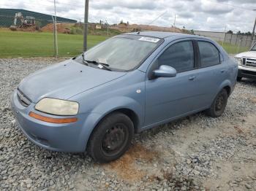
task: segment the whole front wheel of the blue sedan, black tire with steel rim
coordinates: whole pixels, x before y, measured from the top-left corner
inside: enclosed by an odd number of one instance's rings
[[[132,120],[121,112],[105,117],[89,139],[89,155],[97,163],[116,160],[129,149],[134,134]]]

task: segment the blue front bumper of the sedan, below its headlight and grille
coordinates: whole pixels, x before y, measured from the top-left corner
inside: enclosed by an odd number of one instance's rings
[[[53,117],[50,114],[43,114],[34,109],[31,103],[28,107],[20,104],[18,101],[17,91],[12,95],[12,111],[15,114],[18,127],[26,135],[26,137],[37,144],[39,147],[60,152],[84,152],[86,149],[86,132],[83,125],[86,119],[85,115],[78,114],[78,121],[54,124],[36,120],[29,116],[29,112]],[[89,132],[88,132],[89,133]]]

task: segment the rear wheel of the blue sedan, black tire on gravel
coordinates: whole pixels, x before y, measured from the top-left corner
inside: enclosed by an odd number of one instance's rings
[[[227,90],[222,89],[216,98],[214,98],[214,102],[211,104],[211,107],[206,110],[206,114],[210,117],[219,117],[225,111],[227,106]]]

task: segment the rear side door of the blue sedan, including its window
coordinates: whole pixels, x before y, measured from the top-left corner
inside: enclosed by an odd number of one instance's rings
[[[198,40],[199,69],[197,69],[198,101],[194,109],[206,109],[211,106],[219,86],[227,72],[218,48],[207,40]]]

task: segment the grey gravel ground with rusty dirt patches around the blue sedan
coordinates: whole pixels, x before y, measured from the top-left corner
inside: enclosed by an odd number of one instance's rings
[[[17,128],[12,91],[56,61],[0,60],[0,190],[256,190],[256,82],[238,82],[222,117],[144,131],[121,159],[99,165],[86,153],[41,149]]]

